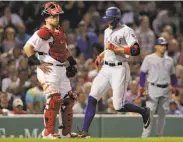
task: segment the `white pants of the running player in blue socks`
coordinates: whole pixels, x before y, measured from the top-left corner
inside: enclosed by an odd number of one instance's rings
[[[113,105],[115,110],[119,110],[124,105],[125,93],[129,81],[130,69],[127,62],[123,62],[123,65],[114,67],[103,65],[93,81],[90,96],[99,100],[109,88],[112,88]]]

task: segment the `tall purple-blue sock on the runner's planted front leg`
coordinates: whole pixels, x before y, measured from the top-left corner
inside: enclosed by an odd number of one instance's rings
[[[96,105],[97,105],[97,100],[92,96],[89,96],[82,131],[86,131],[86,132],[88,131],[90,124],[95,116]]]

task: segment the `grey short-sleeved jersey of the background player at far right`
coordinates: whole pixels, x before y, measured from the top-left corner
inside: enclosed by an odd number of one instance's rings
[[[148,73],[148,82],[155,84],[170,83],[170,76],[175,73],[173,60],[166,55],[159,57],[155,53],[145,57],[140,70]]]

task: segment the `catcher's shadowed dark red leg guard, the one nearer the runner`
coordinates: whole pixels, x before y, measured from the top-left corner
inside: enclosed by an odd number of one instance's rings
[[[73,94],[72,94],[73,95]],[[72,131],[72,120],[73,120],[73,106],[75,102],[75,97],[71,94],[66,95],[64,98],[64,104],[62,106],[62,134],[66,136],[67,134],[71,134]]]

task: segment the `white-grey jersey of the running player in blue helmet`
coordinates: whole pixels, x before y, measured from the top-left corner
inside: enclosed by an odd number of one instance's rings
[[[126,25],[120,25],[120,27],[112,30],[107,28],[104,32],[104,45],[110,42],[117,47],[131,47],[138,40],[135,36],[134,30]],[[129,56],[124,54],[116,54],[110,50],[105,50],[104,60],[108,62],[123,62],[126,61]]]

